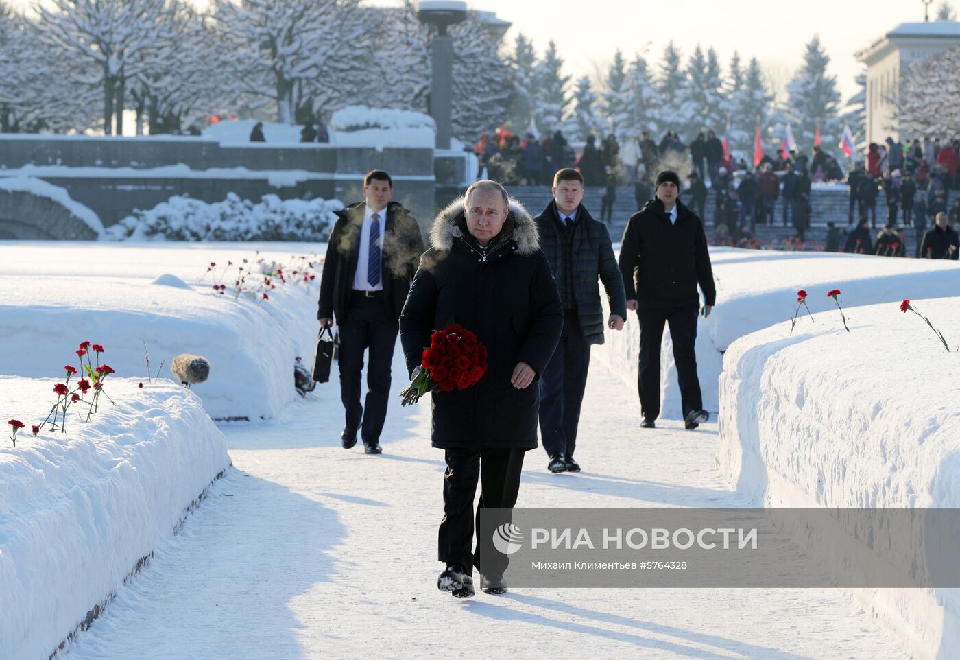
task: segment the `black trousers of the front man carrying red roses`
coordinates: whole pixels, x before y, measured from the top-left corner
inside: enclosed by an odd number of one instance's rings
[[[476,494],[479,477],[477,529],[480,528],[480,514],[484,508],[512,509],[520,489],[524,452],[522,449],[509,448],[445,450],[444,520],[440,524],[438,538],[438,558],[444,564],[459,564],[467,574],[472,573],[474,563],[484,574],[503,574],[506,570],[507,557],[500,552],[491,551],[492,538],[478,538],[476,553],[471,551],[473,496]],[[509,523],[509,517],[502,522]],[[481,559],[481,548],[490,554],[489,560]]]

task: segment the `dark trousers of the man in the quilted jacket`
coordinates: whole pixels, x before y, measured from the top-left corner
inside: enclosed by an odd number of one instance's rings
[[[577,310],[564,310],[560,343],[540,374],[540,439],[548,456],[572,456],[577,449],[589,366],[590,345],[584,339]]]

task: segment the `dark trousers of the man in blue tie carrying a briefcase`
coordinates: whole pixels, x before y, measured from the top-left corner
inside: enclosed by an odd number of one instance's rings
[[[387,311],[382,291],[370,298],[354,291],[345,317],[340,324],[340,399],[347,411],[347,428],[360,429],[363,441],[372,443],[380,438],[387,416],[390,364],[394,359],[399,325]],[[360,380],[364,353],[368,349],[370,358],[364,406],[360,404]]]

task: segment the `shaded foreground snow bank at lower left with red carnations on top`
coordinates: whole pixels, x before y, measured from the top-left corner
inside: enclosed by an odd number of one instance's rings
[[[54,382],[0,376],[4,421],[27,425],[16,449],[0,442],[0,658],[11,660],[48,657],[229,465],[200,400],[167,379],[108,379],[115,405],[33,437]]]

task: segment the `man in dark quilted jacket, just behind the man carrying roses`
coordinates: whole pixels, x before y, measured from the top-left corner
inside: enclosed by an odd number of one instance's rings
[[[537,218],[540,249],[550,263],[564,306],[564,331],[540,378],[540,439],[554,473],[580,472],[573,458],[580,407],[587,387],[590,346],[604,342],[603,281],[611,314],[606,325],[623,330],[627,299],[613,256],[610,232],[582,204],[584,178],[562,169],[553,178],[553,200]]]

